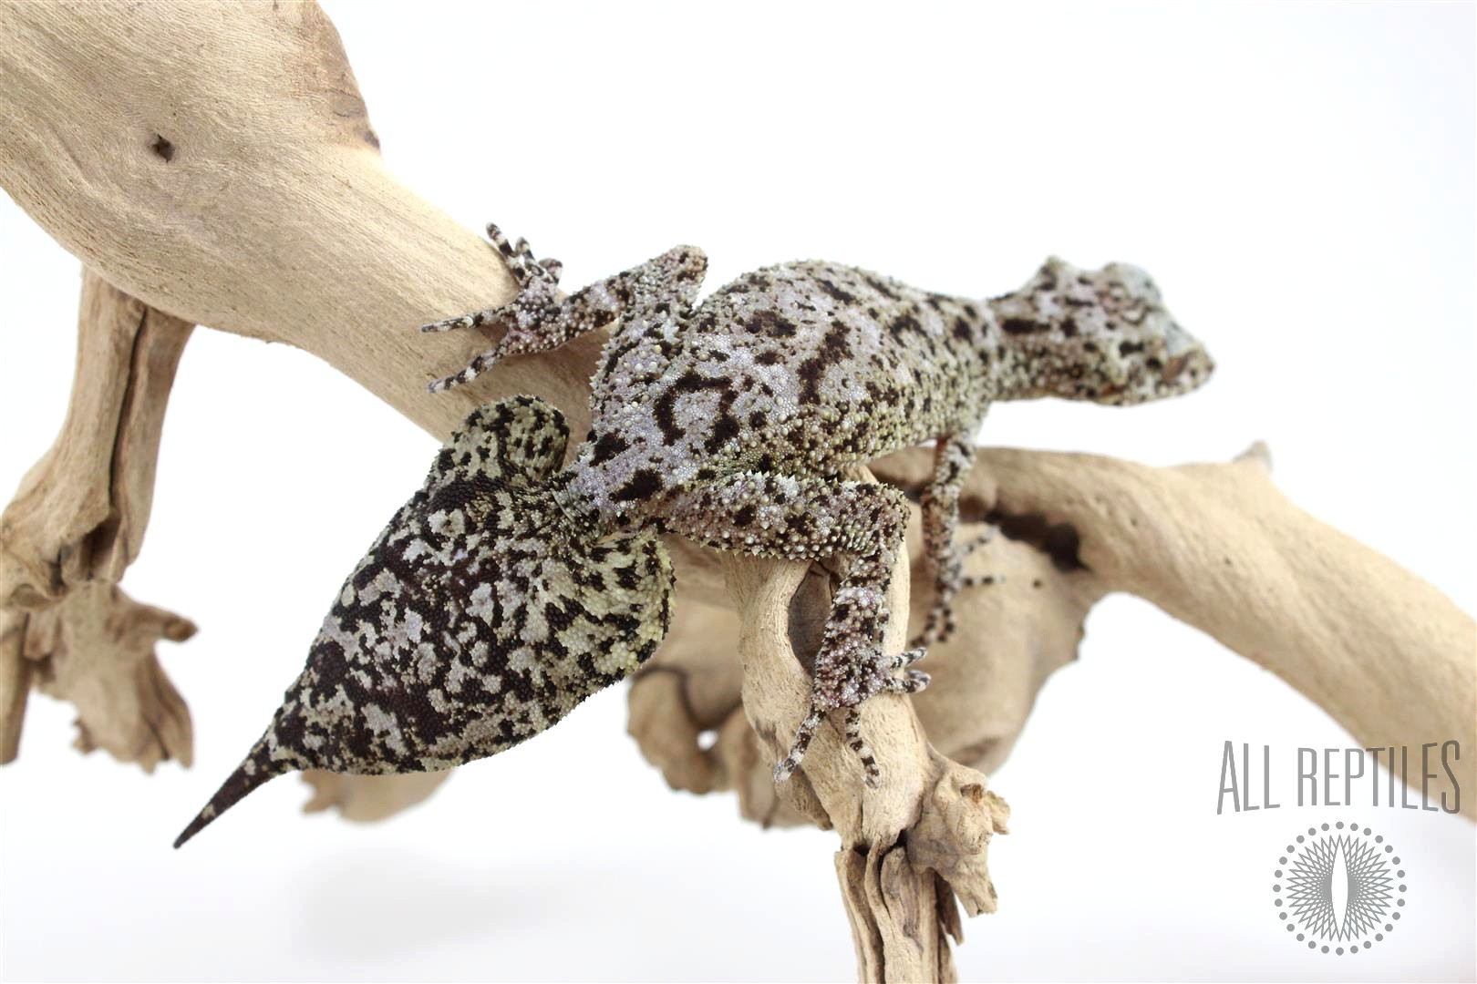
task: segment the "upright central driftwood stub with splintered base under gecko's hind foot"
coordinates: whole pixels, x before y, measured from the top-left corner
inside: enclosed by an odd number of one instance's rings
[[[812,614],[829,608],[830,578],[799,562],[725,555],[725,564],[738,609],[743,708],[767,752],[756,764],[772,769],[809,704],[801,655],[814,656],[820,642]],[[907,611],[908,590],[899,556],[892,611]],[[894,618],[883,651],[901,651],[905,631],[907,620]],[[907,698],[867,701],[861,732],[882,769],[876,789],[860,782],[860,763],[833,718],[778,795],[840,835],[836,873],[861,980],[953,980],[947,937],[962,938],[954,897],[970,915],[994,912],[985,850],[1004,832],[1009,808],[987,792],[982,775],[933,751]]]

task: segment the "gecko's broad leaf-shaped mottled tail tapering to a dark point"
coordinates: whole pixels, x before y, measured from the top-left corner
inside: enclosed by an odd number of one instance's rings
[[[344,581],[266,735],[176,847],[298,770],[433,772],[493,755],[631,676],[671,621],[654,533],[598,538],[561,509],[567,429],[480,407]]]

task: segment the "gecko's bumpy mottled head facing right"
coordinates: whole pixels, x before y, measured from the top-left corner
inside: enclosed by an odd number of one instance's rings
[[[1080,270],[1056,257],[1022,289],[991,301],[1007,372],[1032,395],[1127,406],[1189,392],[1216,364],[1127,263]]]

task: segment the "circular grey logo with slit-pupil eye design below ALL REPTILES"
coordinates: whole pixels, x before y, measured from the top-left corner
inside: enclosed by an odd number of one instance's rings
[[[1384,836],[1357,823],[1307,828],[1272,872],[1272,904],[1309,950],[1353,956],[1400,925],[1405,869]]]

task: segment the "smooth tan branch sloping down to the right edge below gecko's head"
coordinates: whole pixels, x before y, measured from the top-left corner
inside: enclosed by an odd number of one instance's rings
[[[1081,562],[1108,590],[1145,597],[1272,670],[1362,746],[1477,748],[1477,624],[1288,502],[1264,447],[1230,465],[1170,469],[1010,448],[981,465],[998,488],[995,512],[1075,530]],[[1471,791],[1474,779],[1477,760],[1462,755],[1458,786]],[[1450,792],[1445,770],[1430,789]],[[1461,797],[1468,817],[1473,800]]]

